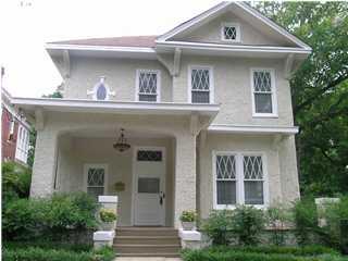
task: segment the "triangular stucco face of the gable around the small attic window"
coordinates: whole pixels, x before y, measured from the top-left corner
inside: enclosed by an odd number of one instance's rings
[[[221,39],[221,27],[223,23],[237,23],[240,26],[240,42],[228,42]],[[259,22],[260,23],[260,22]],[[294,46],[288,40],[274,35],[270,28],[261,32],[249,21],[241,18],[238,14],[226,12],[216,18],[192,29],[191,32],[178,34],[173,40],[212,42],[223,45],[254,45],[254,46]]]

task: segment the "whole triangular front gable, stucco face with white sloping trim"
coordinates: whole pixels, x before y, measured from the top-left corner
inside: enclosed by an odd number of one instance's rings
[[[223,44],[222,25],[239,26],[240,41],[233,45],[311,48],[287,30],[243,2],[222,2],[214,8],[181,24],[158,38],[157,42],[191,41]]]

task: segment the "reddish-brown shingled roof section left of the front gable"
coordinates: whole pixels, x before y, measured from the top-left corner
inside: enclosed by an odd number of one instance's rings
[[[158,36],[124,36],[48,42],[49,45],[154,48]]]

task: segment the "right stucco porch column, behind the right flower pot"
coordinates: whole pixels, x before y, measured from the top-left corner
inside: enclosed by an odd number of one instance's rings
[[[190,133],[176,137],[174,226],[181,227],[184,210],[196,210],[196,137]]]

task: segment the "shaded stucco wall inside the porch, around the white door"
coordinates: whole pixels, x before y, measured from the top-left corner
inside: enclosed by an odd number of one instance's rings
[[[140,134],[139,134],[140,135]],[[59,156],[58,190],[76,191],[86,190],[84,184],[85,164],[107,164],[108,184],[105,195],[116,195],[119,197],[120,217],[117,225],[132,225],[132,192],[133,192],[133,161],[134,150],[137,146],[164,147],[165,148],[165,224],[173,226],[173,189],[174,189],[174,157],[172,138],[130,138],[130,149],[125,152],[117,152],[113,149],[113,138],[78,138],[64,137],[70,140],[70,150],[62,151]],[[65,144],[59,144],[64,148]],[[125,190],[115,192],[113,185],[116,182],[125,184]]]

